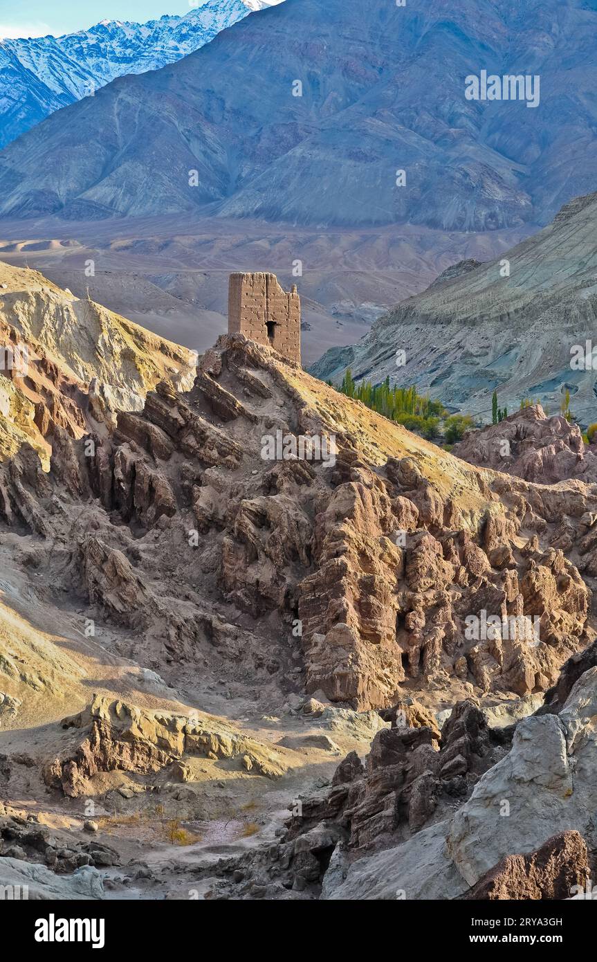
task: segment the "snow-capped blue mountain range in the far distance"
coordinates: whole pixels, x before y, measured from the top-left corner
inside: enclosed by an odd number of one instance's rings
[[[0,148],[115,77],[180,60],[272,2],[280,0],[208,0],[147,23],[101,20],[63,37],[0,38]]]

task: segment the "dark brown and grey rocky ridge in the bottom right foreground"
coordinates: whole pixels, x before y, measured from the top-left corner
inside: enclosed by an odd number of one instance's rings
[[[375,737],[364,767],[348,755],[331,792],[293,811],[276,850],[244,858],[244,884],[231,884],[229,865],[214,893],[585,898],[597,854],[586,807],[595,792],[596,692],[593,668],[558,715],[501,732],[487,728],[472,702],[460,702],[440,738],[417,723],[412,704],[410,717],[399,707],[403,723]]]

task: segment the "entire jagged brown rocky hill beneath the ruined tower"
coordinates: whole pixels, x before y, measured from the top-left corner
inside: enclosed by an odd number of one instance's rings
[[[336,455],[272,458],[279,435],[334,435]],[[465,467],[242,335],[192,392],[162,383],[81,442],[57,430],[49,476],[36,464],[0,468],[0,517],[157,666],[248,657],[363,710],[405,683],[545,691],[594,637],[590,488]]]

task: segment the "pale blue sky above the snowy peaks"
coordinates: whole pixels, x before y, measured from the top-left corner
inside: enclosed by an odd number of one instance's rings
[[[0,37],[70,34],[98,20],[151,20],[162,13],[188,13],[201,0],[0,0]]]

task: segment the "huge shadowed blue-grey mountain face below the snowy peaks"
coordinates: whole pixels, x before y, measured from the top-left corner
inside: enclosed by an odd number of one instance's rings
[[[597,180],[596,27],[581,0],[286,0],[18,139],[0,212],[545,223]],[[465,77],[484,69],[538,75],[538,105],[467,100]]]

